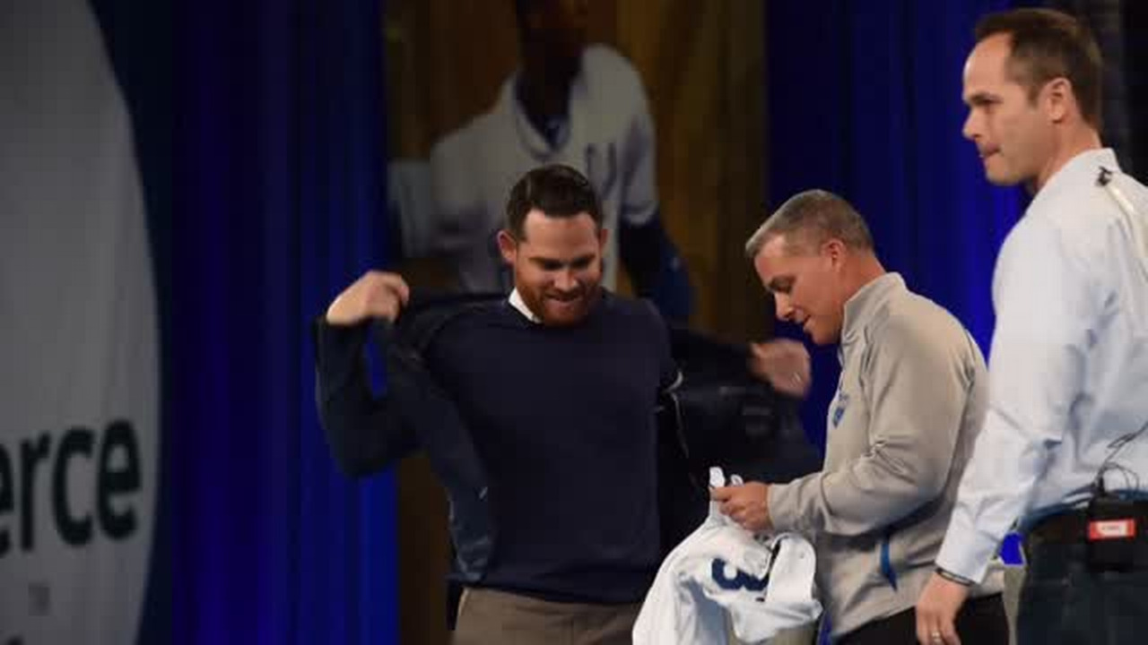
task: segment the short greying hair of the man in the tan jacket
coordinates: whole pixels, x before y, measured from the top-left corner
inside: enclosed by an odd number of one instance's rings
[[[836,238],[851,249],[872,250],[872,235],[861,215],[844,199],[828,191],[806,191],[785,201],[745,243],[753,259],[769,240],[785,235],[789,249],[806,250]]]

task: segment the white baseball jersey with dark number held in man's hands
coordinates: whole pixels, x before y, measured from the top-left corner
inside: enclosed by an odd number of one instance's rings
[[[709,484],[724,484],[711,468]],[[731,483],[740,483],[735,475]],[[709,516],[674,549],[634,623],[635,645],[744,643],[817,620],[813,545],[797,534],[758,539],[709,504]]]

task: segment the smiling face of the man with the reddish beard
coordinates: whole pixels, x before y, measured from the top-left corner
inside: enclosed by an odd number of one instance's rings
[[[514,267],[514,288],[543,325],[582,321],[602,293],[606,231],[589,213],[549,217],[532,209],[523,235],[498,233],[503,258]]]

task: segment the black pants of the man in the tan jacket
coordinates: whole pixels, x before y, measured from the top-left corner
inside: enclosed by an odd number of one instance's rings
[[[1000,593],[974,598],[956,615],[956,635],[969,645],[1008,645],[1008,616]],[[841,636],[837,645],[917,645],[917,612],[905,609]]]

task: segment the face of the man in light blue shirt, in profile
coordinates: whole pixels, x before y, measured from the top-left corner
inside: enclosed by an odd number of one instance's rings
[[[1009,70],[1011,37],[985,38],[964,65],[969,116],[962,133],[977,146],[988,181],[1042,184],[1055,156],[1053,123],[1044,107],[1047,86],[1030,96]]]

